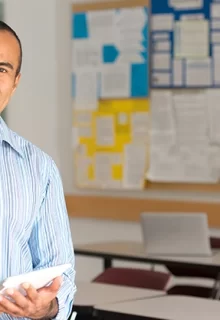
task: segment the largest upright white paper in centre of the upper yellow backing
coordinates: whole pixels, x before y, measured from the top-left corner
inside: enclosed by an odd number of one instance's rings
[[[96,117],[96,144],[97,146],[114,146],[114,117]]]

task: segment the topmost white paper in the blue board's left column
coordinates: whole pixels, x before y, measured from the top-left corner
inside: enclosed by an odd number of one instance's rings
[[[165,31],[173,30],[174,15],[173,14],[155,14],[152,16],[152,30]]]

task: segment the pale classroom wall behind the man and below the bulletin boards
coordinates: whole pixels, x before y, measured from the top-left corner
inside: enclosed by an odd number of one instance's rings
[[[6,21],[16,29],[24,49],[23,77],[7,110],[8,123],[12,129],[54,158],[62,174],[65,192],[82,193],[74,188],[71,150],[71,1],[5,2]],[[220,201],[217,193],[201,195],[154,191],[108,194]],[[88,219],[70,219],[70,223],[74,243],[103,239],[138,241],[141,238],[139,225],[135,223]],[[212,230],[213,232],[220,234],[220,230]],[[77,257],[78,279],[91,279],[99,271],[100,261]]]

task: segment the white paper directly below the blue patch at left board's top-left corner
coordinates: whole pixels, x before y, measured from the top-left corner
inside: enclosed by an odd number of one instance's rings
[[[98,68],[101,64],[101,44],[96,41],[74,40],[72,49],[72,70]]]

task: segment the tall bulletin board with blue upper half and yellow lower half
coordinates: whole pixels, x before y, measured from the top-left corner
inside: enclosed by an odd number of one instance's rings
[[[144,188],[149,148],[147,0],[73,5],[73,152],[80,188]]]

